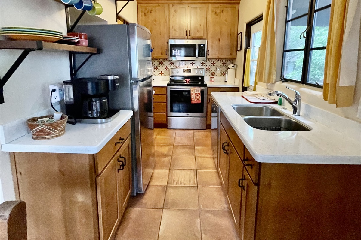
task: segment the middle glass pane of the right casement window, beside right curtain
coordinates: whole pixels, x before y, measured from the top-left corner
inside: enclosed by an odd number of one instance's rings
[[[331,8],[327,8],[315,14],[312,47],[326,47],[327,36],[329,35],[330,10]]]

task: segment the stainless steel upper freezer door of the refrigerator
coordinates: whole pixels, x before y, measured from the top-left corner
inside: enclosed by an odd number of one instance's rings
[[[144,26],[129,24],[131,81],[140,81],[152,75],[151,33]]]

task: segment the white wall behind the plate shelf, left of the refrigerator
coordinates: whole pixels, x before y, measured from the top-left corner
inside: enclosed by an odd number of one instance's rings
[[[0,26],[48,28],[66,33],[64,5],[53,0],[0,0]],[[0,50],[0,76],[21,54]],[[4,86],[0,124],[48,109],[49,84],[70,79],[69,56],[64,52],[31,52]],[[56,105],[58,107],[58,105]],[[1,143],[0,143],[1,144]],[[0,200],[14,200],[9,154],[0,151]]]

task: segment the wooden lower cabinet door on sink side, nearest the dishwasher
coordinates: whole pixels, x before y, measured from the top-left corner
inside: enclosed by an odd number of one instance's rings
[[[222,185],[227,191],[228,189],[228,168],[229,168],[229,145],[230,140],[228,139],[227,133],[224,130],[222,124],[219,124],[220,128],[220,136],[219,136],[219,164],[218,164],[218,172],[221,176]]]

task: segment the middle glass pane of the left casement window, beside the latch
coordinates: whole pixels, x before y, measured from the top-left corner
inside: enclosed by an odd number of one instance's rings
[[[286,29],[286,49],[302,49],[305,48],[305,39],[302,34],[307,28],[307,16],[293,20],[287,23]]]

